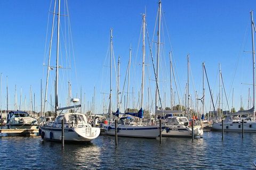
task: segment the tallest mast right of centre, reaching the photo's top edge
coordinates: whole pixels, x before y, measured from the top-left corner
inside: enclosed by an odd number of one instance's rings
[[[156,58],[156,84],[158,84],[158,73],[159,73],[159,56],[160,56],[160,29],[161,29],[161,7],[162,2],[159,0],[158,3],[158,40],[157,40],[157,58]],[[157,87],[156,87],[156,96],[155,96],[156,104],[155,104],[155,110],[158,109],[158,93],[157,93]]]

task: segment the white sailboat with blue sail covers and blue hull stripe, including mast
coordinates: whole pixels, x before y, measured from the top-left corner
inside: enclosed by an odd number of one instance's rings
[[[159,135],[159,126],[157,125],[146,125],[142,123],[141,118],[143,118],[143,89],[144,89],[144,67],[145,67],[145,27],[146,27],[146,15],[142,14],[143,22],[143,39],[142,39],[142,83],[141,83],[141,108],[138,113],[125,113],[127,116],[119,118],[117,135],[123,137],[139,137],[139,138],[157,138]],[[111,32],[112,37],[112,32]],[[111,66],[110,66],[111,68]],[[111,72],[111,71],[110,71]],[[110,85],[111,89],[111,85]],[[111,92],[111,90],[110,90]],[[110,95],[111,102],[111,95]],[[111,103],[110,103],[111,108]],[[119,109],[118,109],[119,111]],[[118,112],[116,113],[118,114]],[[131,116],[138,117],[139,121],[131,121]],[[165,126],[163,125],[162,129],[164,130]],[[108,135],[115,135],[115,124],[109,122],[104,126],[105,132]]]

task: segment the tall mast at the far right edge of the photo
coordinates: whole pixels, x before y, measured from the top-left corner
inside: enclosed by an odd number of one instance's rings
[[[253,119],[255,120],[255,50],[254,50],[254,31],[255,31],[255,25],[253,22],[253,11],[251,12],[251,20],[252,20],[252,75],[253,75],[253,99],[252,99],[252,106],[253,106]]]

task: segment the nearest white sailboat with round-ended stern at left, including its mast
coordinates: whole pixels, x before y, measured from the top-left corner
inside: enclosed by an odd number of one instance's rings
[[[56,1],[54,3],[54,14],[55,14]],[[55,116],[58,111],[63,111],[64,109],[71,109],[76,107],[81,107],[81,105],[74,105],[65,108],[58,107],[58,70],[59,70],[59,31],[60,31],[60,0],[58,3],[58,36],[57,36],[57,63],[56,63],[56,78],[55,78]],[[53,16],[54,23],[54,16]],[[54,24],[53,24],[54,25]],[[52,25],[52,27],[53,27]],[[52,29],[53,30],[53,29]],[[50,63],[50,59],[49,59]],[[71,100],[75,104],[78,99]],[[66,113],[60,114],[54,122],[46,122],[45,124],[39,126],[39,135],[42,139],[61,141],[62,135],[62,125],[61,121],[64,123],[64,140],[71,142],[87,142],[97,138],[100,134],[100,128],[92,128],[92,126],[87,122],[87,117],[81,113]]]

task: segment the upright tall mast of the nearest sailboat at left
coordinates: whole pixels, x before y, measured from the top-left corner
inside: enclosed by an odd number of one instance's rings
[[[55,81],[55,117],[58,109],[58,74],[59,74],[59,38],[60,38],[60,0],[58,9],[58,36],[57,36],[57,59],[56,59],[56,81]]]

